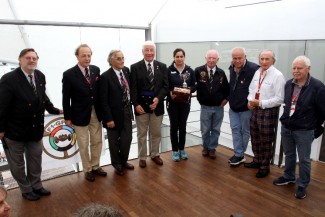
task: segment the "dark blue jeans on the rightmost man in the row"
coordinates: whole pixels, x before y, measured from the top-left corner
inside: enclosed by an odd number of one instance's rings
[[[314,130],[291,131],[282,126],[281,139],[285,154],[284,178],[294,179],[296,177],[296,153],[298,152],[299,178],[297,185],[306,188],[310,182],[310,151],[314,140]]]

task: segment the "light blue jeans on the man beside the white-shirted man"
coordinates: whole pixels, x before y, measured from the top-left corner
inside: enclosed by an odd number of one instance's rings
[[[250,132],[249,120],[252,116],[250,110],[244,112],[234,112],[229,109],[230,128],[232,132],[232,142],[236,157],[243,157],[247,149]]]

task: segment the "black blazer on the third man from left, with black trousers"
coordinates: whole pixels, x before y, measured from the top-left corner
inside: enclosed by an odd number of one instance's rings
[[[130,70],[127,67],[123,68],[124,79],[127,80],[130,85],[129,73]],[[113,68],[109,68],[100,76],[100,103],[103,117],[103,127],[107,128],[106,123],[114,121],[115,129],[120,130],[124,125],[124,109],[130,109],[125,107],[123,103],[123,88]],[[131,119],[130,119],[131,121]]]

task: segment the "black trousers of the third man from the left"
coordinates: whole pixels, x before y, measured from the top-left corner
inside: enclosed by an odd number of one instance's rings
[[[132,142],[132,116],[129,109],[125,109],[123,115],[124,123],[121,129],[107,129],[108,146],[113,167],[122,166],[129,159]]]

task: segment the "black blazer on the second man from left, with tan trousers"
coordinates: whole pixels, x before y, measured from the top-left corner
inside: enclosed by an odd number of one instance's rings
[[[99,74],[97,66],[90,65],[91,85],[88,84],[78,65],[63,73],[62,105],[64,119],[74,125],[87,126],[90,122],[91,108],[94,105],[98,120],[101,120],[99,104]]]

